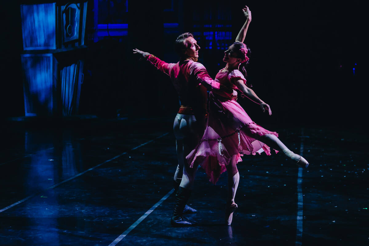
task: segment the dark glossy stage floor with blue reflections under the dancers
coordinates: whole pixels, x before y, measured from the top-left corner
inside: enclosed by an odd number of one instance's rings
[[[214,186],[199,169],[199,224],[173,228],[172,117],[50,124],[3,132],[0,245],[369,245],[369,140],[355,129],[265,127],[308,169],[243,156],[231,226],[227,173]]]

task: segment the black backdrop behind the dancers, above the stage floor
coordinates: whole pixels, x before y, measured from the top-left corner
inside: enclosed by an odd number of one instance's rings
[[[366,114],[366,80],[363,79],[363,6],[360,1],[173,1],[173,11],[163,11],[171,1],[106,2],[99,8],[99,24],[128,23],[124,37],[100,37],[94,42],[93,1],[88,2],[83,51],[84,74],[80,115],[100,118],[175,115],[179,102],[169,77],[132,55],[138,48],[167,62],[177,62],[173,43],[182,32],[194,32],[201,46],[200,62],[215,77],[224,50],[205,49],[204,24],[230,24],[223,28],[235,39],[244,23],[246,4],[252,12],[245,43],[251,48],[248,82],[270,105],[273,115],[240,98],[239,103],[258,124],[324,127],[363,127]],[[22,51],[19,4],[3,2],[1,49],[2,118],[24,116]],[[110,3],[110,5],[108,4]],[[121,11],[122,12],[122,11]],[[122,13],[123,13],[122,12]],[[223,18],[221,16],[230,16]],[[119,17],[119,18],[117,18]],[[223,18],[223,19],[222,19]],[[179,23],[165,34],[163,23]],[[195,27],[194,25],[200,25]],[[201,34],[201,35],[196,35]],[[218,65],[219,64],[219,65]],[[356,65],[355,65],[356,64]],[[353,70],[355,68],[355,70]]]

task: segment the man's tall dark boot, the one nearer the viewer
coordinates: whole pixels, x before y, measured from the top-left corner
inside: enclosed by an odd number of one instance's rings
[[[191,190],[183,187],[178,187],[175,198],[174,210],[170,224],[174,227],[192,226],[196,222],[183,217],[183,209],[190,198]]]

